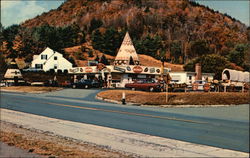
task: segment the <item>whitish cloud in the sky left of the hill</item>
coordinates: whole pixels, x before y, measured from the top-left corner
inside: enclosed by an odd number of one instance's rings
[[[1,5],[1,21],[5,27],[20,24],[48,10],[37,1],[1,1]]]

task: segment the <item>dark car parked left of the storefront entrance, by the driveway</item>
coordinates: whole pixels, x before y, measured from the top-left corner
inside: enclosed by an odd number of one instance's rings
[[[94,88],[100,87],[100,83],[96,80],[81,79],[80,81],[72,84],[72,88],[86,88],[87,89],[87,88],[93,88],[93,87]]]

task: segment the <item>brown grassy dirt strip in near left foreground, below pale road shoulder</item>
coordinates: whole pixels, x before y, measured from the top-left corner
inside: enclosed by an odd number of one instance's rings
[[[105,147],[1,121],[0,141],[46,157],[129,157]]]

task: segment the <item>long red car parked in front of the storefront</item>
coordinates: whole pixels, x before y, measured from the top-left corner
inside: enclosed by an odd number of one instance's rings
[[[135,80],[134,83],[125,84],[125,88],[132,90],[160,91],[161,84],[153,79]]]

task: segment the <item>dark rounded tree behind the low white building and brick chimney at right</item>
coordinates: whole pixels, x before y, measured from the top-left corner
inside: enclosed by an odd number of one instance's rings
[[[217,54],[203,55],[184,65],[185,71],[195,71],[195,64],[201,63],[202,72],[215,73],[215,79],[221,79],[221,73],[225,68],[231,68],[228,60]]]

